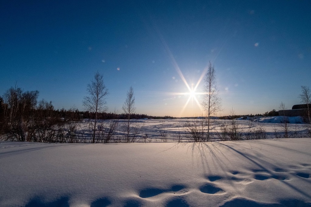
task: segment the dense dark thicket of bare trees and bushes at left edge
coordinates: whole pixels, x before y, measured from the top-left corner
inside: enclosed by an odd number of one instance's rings
[[[39,91],[11,87],[0,97],[0,136],[4,140],[66,142],[66,124],[77,120],[73,110],[56,111],[52,102],[38,101]]]

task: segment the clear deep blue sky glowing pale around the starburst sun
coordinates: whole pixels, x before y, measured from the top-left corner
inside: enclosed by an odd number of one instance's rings
[[[202,114],[208,62],[224,110],[264,113],[299,104],[311,87],[311,1],[0,2],[0,95],[15,83],[57,109],[84,110],[96,71],[121,113]],[[190,98],[189,98],[190,97]]]

